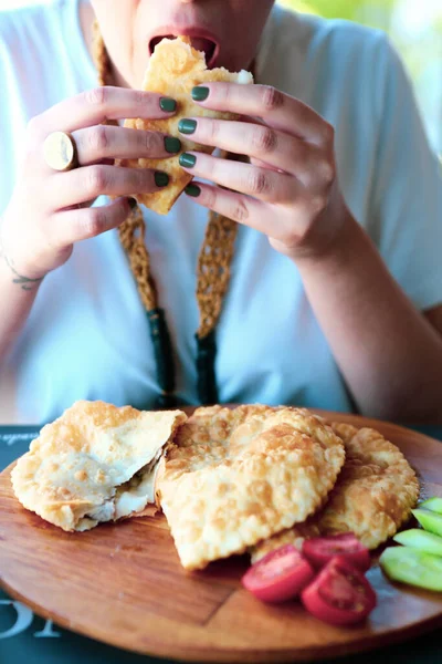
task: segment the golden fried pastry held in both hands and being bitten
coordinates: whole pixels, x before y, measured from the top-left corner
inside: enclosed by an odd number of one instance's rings
[[[212,147],[193,143],[189,137],[178,132],[178,123],[183,117],[217,117],[222,120],[234,120],[238,117],[232,113],[221,113],[219,111],[202,108],[193,103],[190,94],[192,87],[200,83],[213,81],[253,83],[253,76],[245,71],[233,74],[223,68],[208,70],[206,68],[204,53],[192,49],[190,39],[187,37],[161,40],[149,60],[143,89],[149,92],[158,92],[176,100],[178,112],[173,117],[168,120],[127,120],[125,126],[150,132],[161,132],[162,134],[179,137],[182,143],[182,152],[213,152]],[[154,168],[169,175],[169,185],[164,189],[152,194],[139,194],[136,196],[138,203],[144,204],[160,215],[167,215],[178,196],[192,179],[192,176],[180,167],[178,156],[171,155],[164,159],[120,159],[118,162],[120,166]]]

